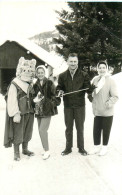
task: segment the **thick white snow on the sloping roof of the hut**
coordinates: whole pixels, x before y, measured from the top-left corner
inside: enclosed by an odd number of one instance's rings
[[[46,50],[44,50],[43,48],[41,48],[34,42],[30,41],[29,39],[23,39],[17,36],[9,37],[7,39],[4,38],[0,40],[0,45],[4,44],[7,40],[17,42],[19,45],[26,48],[28,51],[33,53],[39,59],[43,60],[45,63],[50,65],[52,68],[57,68],[57,66],[59,66],[62,63],[59,56],[55,56],[47,52]]]

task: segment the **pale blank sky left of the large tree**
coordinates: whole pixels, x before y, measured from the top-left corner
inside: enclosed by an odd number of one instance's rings
[[[55,29],[55,10],[67,9],[64,1],[0,0],[0,36],[17,34],[29,38]]]

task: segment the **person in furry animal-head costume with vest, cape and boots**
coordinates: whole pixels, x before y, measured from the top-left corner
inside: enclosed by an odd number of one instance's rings
[[[19,145],[22,153],[34,155],[28,150],[28,142],[32,138],[34,122],[34,90],[32,81],[35,76],[36,60],[19,59],[16,78],[12,80],[7,92],[6,122],[4,146],[14,145],[14,160],[20,160]]]

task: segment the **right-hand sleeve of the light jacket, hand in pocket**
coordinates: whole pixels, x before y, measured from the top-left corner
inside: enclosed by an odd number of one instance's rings
[[[106,108],[111,108],[118,100],[117,86],[114,80],[111,79],[110,97],[106,101]]]

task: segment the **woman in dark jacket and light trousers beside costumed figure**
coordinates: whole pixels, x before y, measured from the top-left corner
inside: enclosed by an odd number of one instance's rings
[[[57,106],[60,104],[60,98],[55,95],[54,83],[45,77],[46,68],[40,65],[36,68],[37,81],[34,84],[35,95],[35,116],[38,122],[38,130],[43,146],[43,159],[50,157],[48,143],[48,129],[50,126],[51,116],[57,114]],[[37,99],[40,101],[38,102]]]

